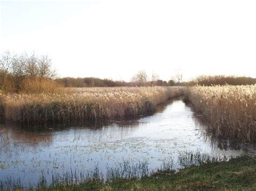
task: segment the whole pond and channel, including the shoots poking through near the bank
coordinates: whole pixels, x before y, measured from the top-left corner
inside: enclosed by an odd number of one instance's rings
[[[180,98],[158,105],[151,116],[46,129],[6,124],[0,132],[2,185],[10,187],[104,185],[256,152],[255,144],[212,140]]]

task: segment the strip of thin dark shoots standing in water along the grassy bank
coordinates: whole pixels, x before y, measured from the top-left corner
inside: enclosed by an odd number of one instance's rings
[[[47,172],[41,172],[41,176],[37,182],[37,186],[31,187],[30,189],[48,189],[53,187],[66,187],[67,189],[72,186],[78,185],[104,185],[107,183],[115,184],[119,181],[129,180],[143,180],[151,177],[157,177],[161,173],[168,175],[174,175],[177,169],[183,169],[188,166],[200,166],[212,162],[227,161],[225,157],[220,155],[210,156],[200,151],[186,151],[179,153],[178,163],[176,163],[172,157],[165,158],[162,160],[160,167],[150,170],[149,161],[147,160],[136,160],[133,161],[123,160],[118,162],[116,166],[106,166],[105,174],[102,169],[96,165],[90,171],[76,171],[70,169],[65,173],[53,174],[50,178],[47,177]],[[231,157],[232,159],[234,157]],[[189,159],[189,160],[188,160]],[[189,161],[189,162],[188,162]],[[27,189],[28,187],[23,186],[23,182],[18,179],[7,178],[0,180],[0,189]]]

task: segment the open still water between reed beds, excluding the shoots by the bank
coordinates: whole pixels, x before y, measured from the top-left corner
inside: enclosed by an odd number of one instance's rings
[[[148,117],[113,121],[102,126],[26,129],[0,126],[0,180],[20,179],[25,186],[36,185],[44,172],[100,172],[118,162],[147,161],[149,169],[163,160],[177,160],[185,151],[210,155],[255,154],[256,145],[231,140],[214,140],[193,111],[181,100],[161,104]],[[177,166],[178,168],[178,166]]]

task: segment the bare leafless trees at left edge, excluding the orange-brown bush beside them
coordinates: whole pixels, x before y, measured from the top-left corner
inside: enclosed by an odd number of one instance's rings
[[[0,67],[3,91],[20,91],[24,80],[56,77],[55,70],[51,68],[51,60],[46,55],[17,55],[6,51],[0,58]]]

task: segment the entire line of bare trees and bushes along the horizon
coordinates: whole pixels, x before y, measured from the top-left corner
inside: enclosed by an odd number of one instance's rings
[[[40,93],[55,92],[62,87],[120,87],[120,86],[214,86],[255,84],[256,79],[245,76],[201,75],[191,81],[183,81],[182,73],[161,80],[159,75],[147,75],[140,70],[130,82],[99,79],[97,77],[57,77],[47,55],[11,54],[4,52],[0,57],[0,86],[2,93]]]

